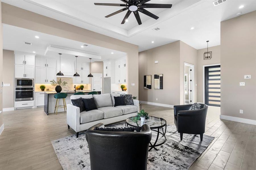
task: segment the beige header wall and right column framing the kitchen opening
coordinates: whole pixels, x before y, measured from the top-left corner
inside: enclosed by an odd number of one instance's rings
[[[139,47],[112,37],[89,31],[65,22],[2,3],[3,23],[42,33],[80,41],[127,53],[127,85],[129,94],[138,96],[138,51]],[[135,86],[131,86],[135,83]]]

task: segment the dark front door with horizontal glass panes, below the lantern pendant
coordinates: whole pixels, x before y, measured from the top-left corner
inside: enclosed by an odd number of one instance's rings
[[[220,65],[205,67],[205,104],[220,107]]]

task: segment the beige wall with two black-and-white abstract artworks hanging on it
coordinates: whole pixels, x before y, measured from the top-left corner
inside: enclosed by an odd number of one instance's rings
[[[179,105],[179,48],[176,41],[139,53],[139,100]],[[154,74],[163,74],[163,90],[154,89]],[[144,89],[144,75],[152,75],[152,89]]]

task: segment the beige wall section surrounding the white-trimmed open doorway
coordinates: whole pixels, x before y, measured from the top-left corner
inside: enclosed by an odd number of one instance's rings
[[[194,102],[197,102],[197,49],[180,41],[180,104],[184,104],[184,62],[194,65]]]

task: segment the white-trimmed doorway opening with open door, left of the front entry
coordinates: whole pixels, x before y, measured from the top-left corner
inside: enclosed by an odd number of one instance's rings
[[[184,63],[184,103],[194,103],[194,65]]]

